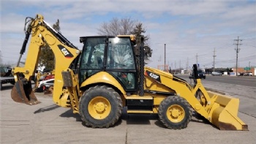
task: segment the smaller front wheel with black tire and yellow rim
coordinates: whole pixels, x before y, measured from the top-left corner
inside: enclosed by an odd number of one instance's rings
[[[169,129],[184,129],[192,118],[192,110],[181,96],[168,96],[159,105],[159,120]]]

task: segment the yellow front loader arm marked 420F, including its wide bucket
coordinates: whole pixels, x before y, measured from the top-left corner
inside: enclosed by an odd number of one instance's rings
[[[239,99],[231,96],[206,91],[195,71],[195,85],[190,86],[186,80],[159,69],[145,67],[147,91],[169,93],[181,96],[189,103],[196,113],[222,130],[248,130],[248,126],[238,118]]]

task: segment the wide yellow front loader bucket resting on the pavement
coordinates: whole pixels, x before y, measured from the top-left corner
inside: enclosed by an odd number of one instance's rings
[[[248,126],[237,116],[239,99],[209,91],[208,95],[214,101],[208,115],[212,124],[221,130],[248,130]]]

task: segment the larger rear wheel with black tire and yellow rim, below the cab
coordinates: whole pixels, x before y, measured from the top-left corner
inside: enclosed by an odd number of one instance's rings
[[[80,99],[79,113],[86,126],[108,128],[116,124],[123,106],[119,94],[108,86],[89,88]]]

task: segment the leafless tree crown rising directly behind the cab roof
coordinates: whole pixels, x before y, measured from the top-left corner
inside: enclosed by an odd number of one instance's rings
[[[132,34],[136,23],[137,20],[132,20],[131,18],[113,18],[109,23],[102,23],[97,30],[99,35],[128,35]]]

